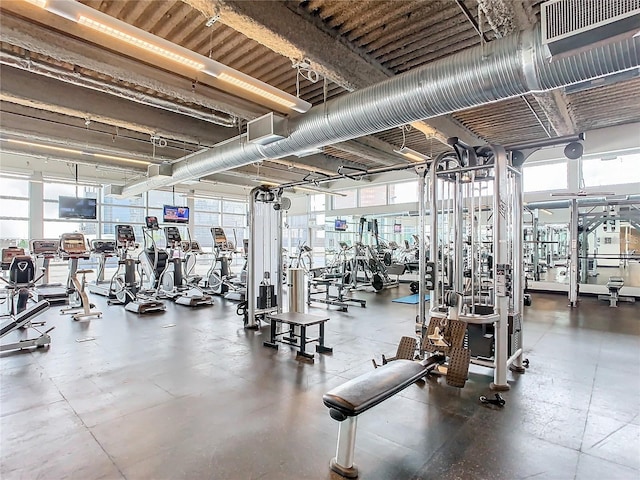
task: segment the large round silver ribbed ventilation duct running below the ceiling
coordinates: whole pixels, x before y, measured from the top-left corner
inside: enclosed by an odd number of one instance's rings
[[[317,105],[289,119],[289,136],[283,140],[262,146],[238,139],[177,162],[167,184],[639,65],[637,37],[550,61],[538,30],[520,32]],[[145,190],[148,186],[142,181],[127,186],[124,193],[134,195]]]

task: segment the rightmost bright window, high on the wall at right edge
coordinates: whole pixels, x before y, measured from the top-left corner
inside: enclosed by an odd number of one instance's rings
[[[582,161],[585,187],[640,183],[640,154]]]

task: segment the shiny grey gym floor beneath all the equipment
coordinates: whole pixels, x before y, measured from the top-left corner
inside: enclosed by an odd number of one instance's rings
[[[401,286],[358,293],[365,309],[328,310],[331,355],[296,361],[262,346],[235,304],[137,316],[107,307],[74,322],[41,318],[49,349],[0,358],[5,479],[337,479],[337,424],[322,394],[391,354],[417,306]],[[531,362],[510,376],[503,409],[483,406],[491,371],[463,390],[412,385],[359,419],[362,479],[640,478],[640,305],[534,294]],[[323,313],[324,308],[311,309]],[[511,374],[510,374],[511,375]]]

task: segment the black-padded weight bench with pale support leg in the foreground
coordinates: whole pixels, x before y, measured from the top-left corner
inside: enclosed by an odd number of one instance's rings
[[[445,361],[444,355],[432,355],[421,362],[395,360],[325,393],[322,401],[329,408],[329,415],[340,422],[331,470],[343,477],[356,478],[358,468],[353,455],[358,415],[393,397]]]

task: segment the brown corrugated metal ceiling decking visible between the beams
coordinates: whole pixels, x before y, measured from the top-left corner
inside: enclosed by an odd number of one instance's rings
[[[325,85],[322,78],[310,82],[298,76],[291,59],[226,26],[224,18],[206,26],[208,19],[205,15],[183,1],[84,0],[82,3],[209,56],[290,94],[297,93],[298,84],[300,96],[312,104],[345,93],[344,88],[330,80]],[[276,3],[286,6],[300,17],[300,26],[304,25],[304,28],[319,25],[330,38],[347,44],[355,54],[385,72],[385,75],[400,74],[481,43],[474,25],[455,0],[286,0],[263,3],[264,8]],[[473,20],[477,21],[478,2],[464,0],[462,3]],[[540,1],[525,0],[522,4],[533,18],[538,15]],[[487,15],[481,18],[480,29],[489,41],[495,39],[497,34],[492,31]],[[291,28],[300,26],[292,25]],[[280,32],[281,35],[286,33]],[[34,58],[60,64],[55,59],[38,57],[12,45],[3,43],[1,48],[14,54],[33,55]],[[74,65],[62,66],[104,81],[112,80],[87,69],[77,69]],[[122,85],[122,82],[119,84]],[[167,95],[160,95],[150,88],[133,84],[124,86],[169,99]],[[569,94],[566,98],[577,131],[583,131],[640,121],[638,102],[629,102],[629,98],[637,98],[638,95],[640,80],[631,80]],[[195,104],[189,106],[198,108]],[[451,115],[451,120],[470,134],[495,143],[546,138],[547,132],[555,135],[544,110],[533,96],[456,112]],[[236,132],[230,130],[231,137]],[[415,129],[404,132],[394,129],[381,132],[376,137],[394,148],[406,145],[427,155],[436,155],[446,149],[442,143],[426,138]],[[337,148],[327,147],[325,153],[364,167],[376,166],[370,159]]]

